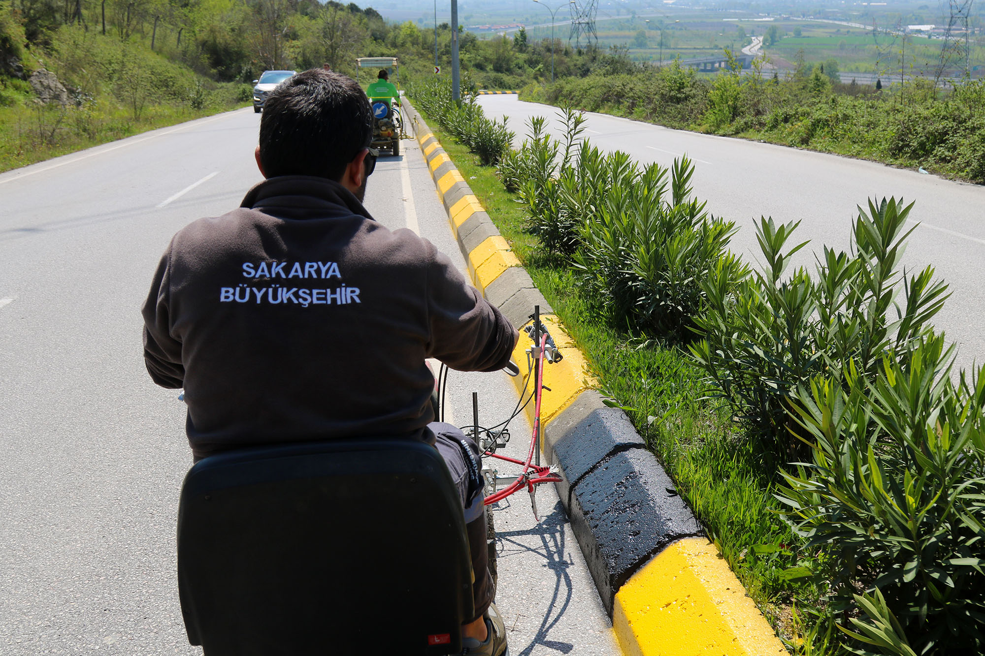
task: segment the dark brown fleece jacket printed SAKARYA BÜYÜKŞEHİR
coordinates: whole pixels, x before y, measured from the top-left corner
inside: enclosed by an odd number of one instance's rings
[[[341,184],[287,175],[178,231],[144,304],[144,359],[184,387],[192,451],[430,439],[436,358],[492,371],[517,332],[451,261]]]

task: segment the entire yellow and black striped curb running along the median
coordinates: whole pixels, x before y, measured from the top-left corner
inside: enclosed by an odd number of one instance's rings
[[[539,304],[564,356],[544,369],[542,448],[624,653],[786,654],[625,413],[592,389],[581,352],[424,119],[404,108],[473,283],[517,328]],[[524,342],[513,361],[526,374]],[[513,380],[522,394],[523,376]]]

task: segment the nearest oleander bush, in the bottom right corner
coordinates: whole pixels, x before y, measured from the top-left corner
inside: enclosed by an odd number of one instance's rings
[[[778,498],[807,549],[831,556],[832,608],[862,609],[842,616],[856,653],[985,649],[985,378],[955,386],[950,362],[927,333],[874,378],[797,391],[814,462]]]

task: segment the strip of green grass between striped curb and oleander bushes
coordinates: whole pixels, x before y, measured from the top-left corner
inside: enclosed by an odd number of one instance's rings
[[[579,294],[571,270],[549,259],[525,230],[523,206],[503,189],[493,168],[479,165],[447,134],[435,134],[557,311],[601,391],[624,407],[750,596],[781,635],[791,637],[792,600],[814,595],[782,578],[796,560],[789,549],[795,538],[772,512],[771,482],[756,469],[728,410],[702,398],[701,374],[682,349],[606,325]],[[784,547],[755,549],[762,545]]]

